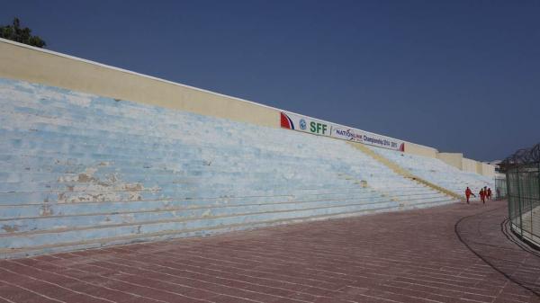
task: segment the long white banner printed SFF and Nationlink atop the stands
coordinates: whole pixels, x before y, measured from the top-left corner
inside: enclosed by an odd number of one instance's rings
[[[363,143],[374,147],[405,151],[405,143],[394,138],[384,137],[360,129],[347,128],[339,124],[329,123],[322,120],[315,120],[295,113],[282,111],[280,114],[281,127],[284,129],[293,129],[297,131],[309,132],[314,135]]]

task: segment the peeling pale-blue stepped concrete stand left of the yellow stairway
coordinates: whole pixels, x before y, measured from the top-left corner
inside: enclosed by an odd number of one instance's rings
[[[0,258],[454,201],[343,140],[0,78]]]

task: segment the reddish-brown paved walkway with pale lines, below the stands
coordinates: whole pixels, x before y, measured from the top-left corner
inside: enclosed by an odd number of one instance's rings
[[[454,204],[4,260],[0,302],[540,302],[540,254],[505,231],[506,211]]]

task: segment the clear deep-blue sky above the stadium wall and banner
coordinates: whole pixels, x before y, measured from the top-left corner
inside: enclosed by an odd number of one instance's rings
[[[4,1],[47,49],[478,160],[540,142],[540,1]]]

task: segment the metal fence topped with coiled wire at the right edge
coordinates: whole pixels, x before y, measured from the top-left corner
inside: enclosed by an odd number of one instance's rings
[[[512,230],[540,246],[540,145],[519,150],[503,164]]]

